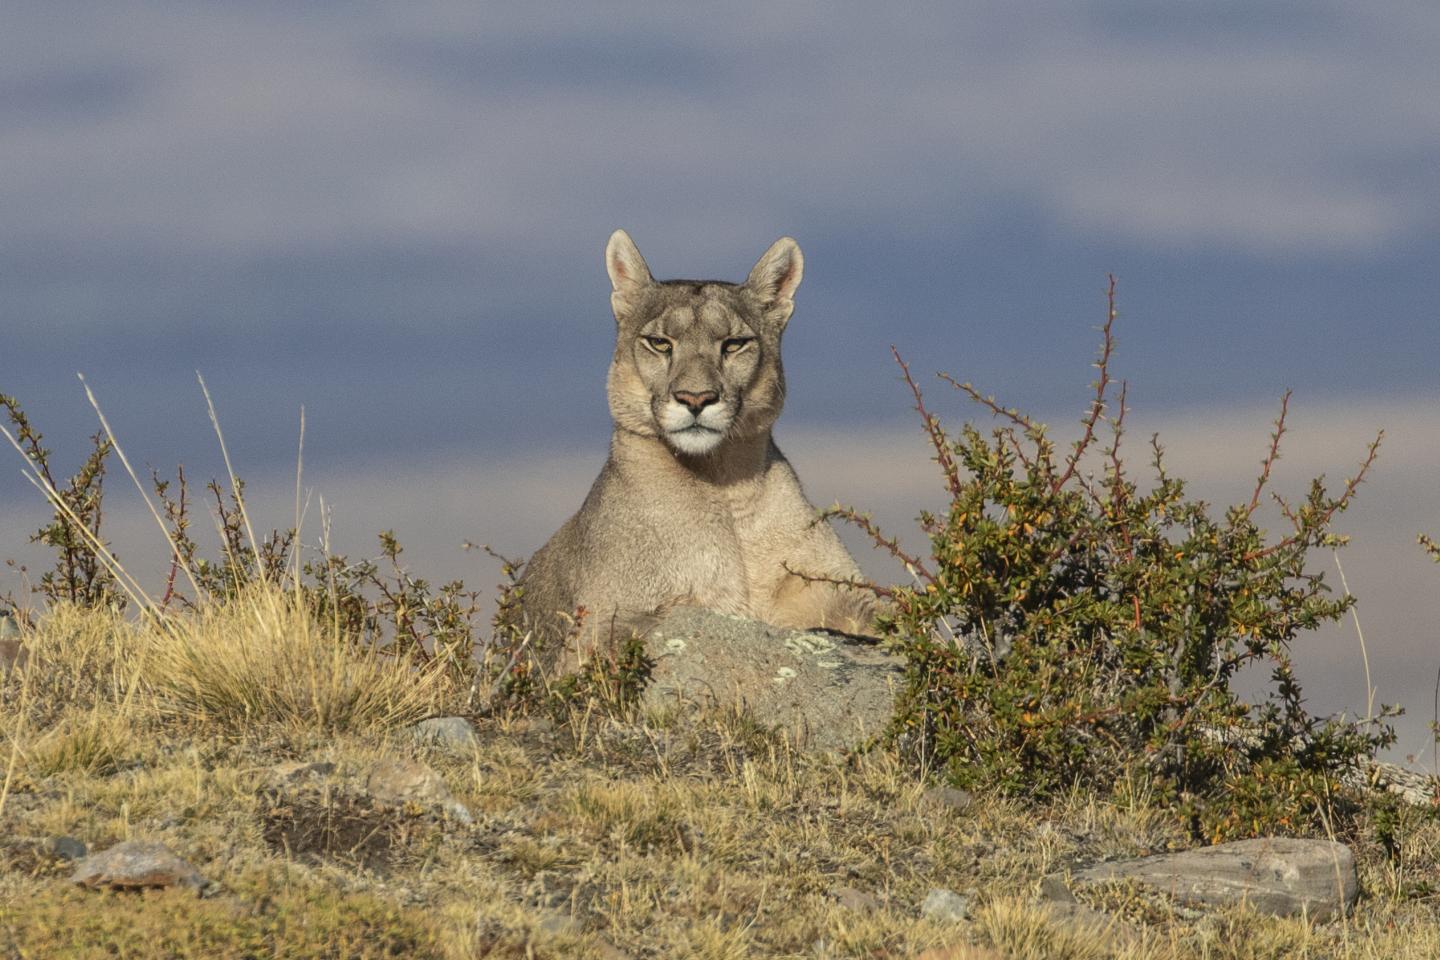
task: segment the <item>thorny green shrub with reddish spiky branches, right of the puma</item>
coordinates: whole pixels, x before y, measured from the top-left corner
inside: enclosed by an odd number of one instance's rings
[[[1044,425],[940,374],[1001,420],[952,436],[896,353],[949,492],[943,514],[920,517],[930,557],[865,515],[828,511],[914,579],[877,587],[890,600],[883,632],[909,664],[894,733],[966,786],[1045,799],[1126,773],[1200,836],[1310,829],[1336,812],[1344,774],[1392,740],[1388,708],[1368,723],[1312,717],[1292,662],[1303,632],[1354,602],[1329,596],[1309,558],[1344,544],[1332,520],[1381,438],[1339,495],[1322,478],[1297,501],[1274,497],[1289,524],[1279,537],[1256,512],[1289,393],[1248,502],[1215,515],[1188,497],[1155,438],[1142,485],[1122,452],[1123,384],[1112,402],[1113,320],[1112,279],[1094,399],[1064,452]],[[1248,704],[1234,681],[1257,669],[1269,684]]]

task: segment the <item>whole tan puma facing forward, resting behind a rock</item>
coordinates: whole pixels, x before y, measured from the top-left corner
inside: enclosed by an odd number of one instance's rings
[[[589,629],[608,633],[703,606],[865,630],[867,593],[786,571],[860,577],[770,438],[785,402],[780,334],[804,272],[799,246],[782,237],[739,285],[657,282],[624,230],[605,261],[616,321],[611,455],[579,512],[526,567],[527,617],[557,633],[585,607]]]

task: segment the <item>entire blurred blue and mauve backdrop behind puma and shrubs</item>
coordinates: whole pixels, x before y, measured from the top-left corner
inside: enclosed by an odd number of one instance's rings
[[[252,486],[284,502],[304,406],[351,550],[395,527],[422,573],[488,583],[456,541],[530,553],[603,459],[611,230],[657,276],[733,281],[791,235],[782,446],[816,501],[904,522],[933,468],[890,345],[1068,423],[1113,273],[1113,373],[1217,492],[1287,387],[1297,486],[1390,427],[1346,573],[1382,698],[1428,720],[1428,0],[3,10],[0,391],[62,463],[95,429],[84,373],[132,461],[217,472],[200,371]],[[45,517],[20,466],[0,556]],[[1318,658],[1326,708],[1356,702],[1352,648]]]

